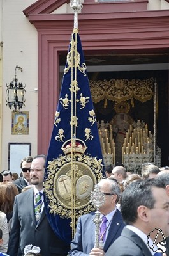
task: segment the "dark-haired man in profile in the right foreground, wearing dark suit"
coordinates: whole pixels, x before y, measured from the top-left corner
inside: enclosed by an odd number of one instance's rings
[[[122,193],[121,212],[127,226],[108,248],[106,256],[152,256],[165,252],[165,247],[159,250],[157,246],[169,234],[169,198],[163,182],[155,179],[131,182]]]

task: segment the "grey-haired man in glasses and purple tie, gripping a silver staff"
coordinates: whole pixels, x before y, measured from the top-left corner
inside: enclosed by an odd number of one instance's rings
[[[73,255],[104,255],[108,247],[112,244],[117,237],[120,236],[124,223],[122,221],[121,212],[116,207],[121,194],[119,185],[116,180],[102,179],[99,183],[100,191],[105,194],[105,204],[99,208],[102,216],[107,218],[105,228],[105,241],[103,241],[102,248],[94,248],[95,242],[95,224],[94,213],[86,214],[78,219],[77,232],[75,238],[71,241],[70,256]],[[103,233],[99,234],[99,239],[103,237]]]

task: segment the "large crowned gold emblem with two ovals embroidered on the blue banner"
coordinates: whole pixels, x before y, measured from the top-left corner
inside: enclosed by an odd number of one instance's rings
[[[50,213],[65,218],[72,217],[75,205],[76,218],[94,211],[89,198],[94,185],[101,179],[102,159],[85,155],[86,145],[76,140],[74,155],[71,154],[71,140],[62,145],[65,155],[48,162],[48,178],[45,180],[45,193],[48,196]],[[75,157],[72,166],[72,157]],[[73,177],[71,179],[73,172]],[[73,201],[71,197],[73,196]],[[72,205],[73,204],[73,205]],[[74,211],[74,209],[73,209]]]

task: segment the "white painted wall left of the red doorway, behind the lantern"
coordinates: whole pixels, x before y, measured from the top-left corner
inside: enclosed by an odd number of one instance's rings
[[[3,0],[3,125],[1,170],[8,168],[8,143],[31,143],[32,156],[37,154],[37,100],[38,92],[38,42],[37,32],[22,12],[34,0]],[[29,111],[29,134],[11,135],[11,110],[6,107],[6,83],[14,78],[15,66],[18,81],[26,84],[26,107]],[[12,170],[17,171],[17,170]]]

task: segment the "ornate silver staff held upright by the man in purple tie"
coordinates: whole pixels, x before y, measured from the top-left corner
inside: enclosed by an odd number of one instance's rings
[[[99,185],[94,186],[94,191],[91,192],[90,202],[92,202],[94,207],[96,207],[96,212],[95,212],[95,216],[93,219],[94,224],[96,226],[94,247],[95,248],[103,248],[103,242],[101,240],[99,241],[99,226],[102,221],[100,218],[99,207],[101,207],[101,205],[105,204],[105,195],[103,192],[100,191]]]

